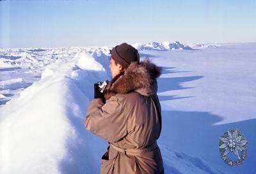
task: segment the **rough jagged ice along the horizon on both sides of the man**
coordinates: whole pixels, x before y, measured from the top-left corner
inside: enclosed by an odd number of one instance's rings
[[[139,51],[143,50],[193,50],[200,48],[220,47],[217,44],[191,43],[179,41],[151,42],[131,44]],[[58,59],[72,59],[79,51],[87,52],[93,57],[108,57],[113,46],[104,47],[61,47],[61,48],[8,48],[0,49],[0,68],[27,67],[35,69],[45,67]],[[98,61],[98,60],[97,60]],[[100,62],[104,65],[104,62]]]

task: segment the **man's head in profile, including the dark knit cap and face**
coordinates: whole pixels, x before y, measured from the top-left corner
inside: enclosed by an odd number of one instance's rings
[[[110,54],[111,59],[109,68],[111,70],[112,77],[128,68],[131,62],[140,62],[138,50],[127,43],[116,45],[116,47],[110,51]]]

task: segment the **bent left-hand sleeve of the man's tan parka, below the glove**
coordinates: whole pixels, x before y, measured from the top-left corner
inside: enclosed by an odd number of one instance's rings
[[[91,101],[84,126],[100,138],[115,142],[127,134],[125,122],[122,103],[118,101],[116,96],[112,96],[105,105],[101,99]]]

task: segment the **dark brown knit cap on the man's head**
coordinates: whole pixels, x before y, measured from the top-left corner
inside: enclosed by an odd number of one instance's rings
[[[128,68],[131,62],[140,62],[138,50],[127,43],[116,45],[116,47],[110,51],[110,54],[111,57],[124,68]]]

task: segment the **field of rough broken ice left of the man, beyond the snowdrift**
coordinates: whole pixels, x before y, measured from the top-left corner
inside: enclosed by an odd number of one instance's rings
[[[78,52],[87,52],[93,57],[109,56],[113,47],[70,47],[70,48],[9,48],[0,49],[0,68],[42,68],[58,59],[68,61]]]

